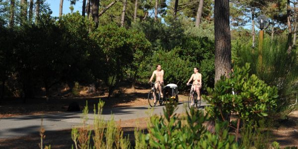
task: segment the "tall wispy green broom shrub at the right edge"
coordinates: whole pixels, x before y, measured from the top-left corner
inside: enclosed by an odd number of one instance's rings
[[[283,105],[287,105],[290,101],[295,101],[297,94],[298,80],[298,55],[297,49],[293,49],[291,54],[287,53],[287,43],[284,42],[286,36],[279,36],[271,41],[265,38],[262,48],[262,64],[258,61],[257,49],[252,49],[249,45],[238,46],[233,49],[236,65],[244,66],[250,63],[250,74],[256,74],[260,79],[264,80],[270,86],[276,86],[278,89],[280,105],[279,111]],[[261,67],[261,69],[259,69]]]

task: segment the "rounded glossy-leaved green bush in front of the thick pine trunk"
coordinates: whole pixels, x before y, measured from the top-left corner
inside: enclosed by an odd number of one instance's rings
[[[267,116],[267,112],[276,106],[277,88],[268,86],[249,72],[249,64],[235,67],[230,78],[222,78],[214,89],[207,89],[210,96],[203,95],[203,98],[212,105],[207,108],[212,116],[224,120],[226,113],[233,112],[239,119],[250,121]]]

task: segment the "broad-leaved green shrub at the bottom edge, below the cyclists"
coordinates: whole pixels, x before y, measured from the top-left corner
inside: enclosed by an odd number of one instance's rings
[[[186,124],[183,125],[177,114],[176,105],[166,103],[163,117],[150,118],[147,140],[150,148],[160,149],[238,149],[234,138],[227,133],[227,123],[217,123],[216,133],[211,134],[203,126],[206,116],[200,110],[186,112]]]

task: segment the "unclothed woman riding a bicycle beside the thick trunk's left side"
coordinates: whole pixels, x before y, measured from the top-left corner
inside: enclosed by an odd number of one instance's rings
[[[194,74],[191,75],[190,79],[186,83],[186,85],[189,85],[189,82],[193,80],[193,85],[191,87],[191,90],[194,90],[198,94],[198,100],[201,100],[200,96],[200,89],[202,88],[202,74],[199,73],[199,68],[194,68]],[[194,104],[194,101],[192,101],[191,105]]]

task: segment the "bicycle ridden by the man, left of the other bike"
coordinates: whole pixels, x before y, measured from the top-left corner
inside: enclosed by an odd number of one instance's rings
[[[163,98],[160,98],[160,91],[157,93],[157,89],[155,88],[155,83],[150,82],[151,90],[148,93],[148,102],[150,107],[155,107],[157,101],[159,102],[159,105],[163,105],[164,101]],[[156,101],[154,102],[154,95],[156,97]]]

